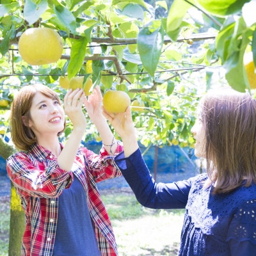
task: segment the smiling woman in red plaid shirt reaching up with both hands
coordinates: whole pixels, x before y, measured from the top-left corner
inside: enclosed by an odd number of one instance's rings
[[[103,147],[95,154],[80,147],[86,129],[82,106],[97,127]],[[117,255],[115,236],[96,182],[120,176],[114,157],[122,151],[102,115],[97,86],[86,99],[69,90],[64,109],[47,86],[24,86],[11,109],[12,140],[20,150],[7,171],[26,212],[22,255]],[[65,145],[65,113],[73,130]]]

